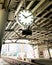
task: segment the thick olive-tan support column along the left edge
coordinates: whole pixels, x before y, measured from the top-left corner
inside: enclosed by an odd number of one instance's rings
[[[1,53],[1,46],[2,46],[2,38],[7,22],[7,15],[8,12],[5,9],[0,9],[0,53]]]

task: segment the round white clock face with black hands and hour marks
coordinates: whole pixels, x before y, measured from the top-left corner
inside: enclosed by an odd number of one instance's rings
[[[34,20],[32,12],[29,10],[22,10],[18,14],[18,21],[25,27],[29,26]]]

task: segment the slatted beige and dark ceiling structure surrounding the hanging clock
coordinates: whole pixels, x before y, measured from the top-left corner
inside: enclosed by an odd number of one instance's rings
[[[8,10],[8,20],[6,23],[3,39],[29,39],[29,40],[52,40],[52,1],[51,0],[0,0],[3,8]],[[25,6],[26,5],[26,6]],[[21,26],[15,17],[19,11],[29,9],[34,14],[34,22],[30,25],[32,35],[22,35]],[[6,31],[14,29],[13,31]]]

